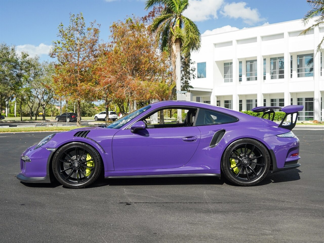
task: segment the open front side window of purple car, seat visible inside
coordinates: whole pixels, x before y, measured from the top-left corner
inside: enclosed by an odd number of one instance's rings
[[[177,122],[178,109],[181,110],[182,123]],[[154,113],[144,117],[142,121],[146,123],[148,129],[184,126],[189,127],[193,126],[196,113],[197,109],[192,107],[188,107],[188,110],[185,110],[184,107],[171,107],[155,111]]]

